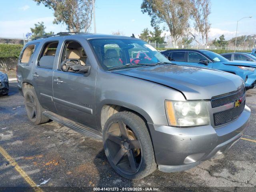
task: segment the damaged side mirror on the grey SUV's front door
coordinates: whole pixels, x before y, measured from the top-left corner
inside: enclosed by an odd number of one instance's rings
[[[90,70],[90,66],[81,65],[81,61],[79,59],[66,59],[62,61],[60,67],[63,72],[87,73]]]

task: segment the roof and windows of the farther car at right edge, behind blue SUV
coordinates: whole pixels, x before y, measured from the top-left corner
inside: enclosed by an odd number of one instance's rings
[[[244,52],[235,52],[235,53],[223,53],[220,54],[224,58],[230,60],[230,61],[251,61],[256,62],[256,57],[253,56],[250,53],[244,53]],[[255,63],[256,65],[256,63]]]

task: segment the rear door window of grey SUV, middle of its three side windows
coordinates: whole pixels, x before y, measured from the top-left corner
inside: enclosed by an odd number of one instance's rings
[[[58,47],[58,41],[47,42],[44,44],[38,58],[38,67],[52,69],[54,58]]]

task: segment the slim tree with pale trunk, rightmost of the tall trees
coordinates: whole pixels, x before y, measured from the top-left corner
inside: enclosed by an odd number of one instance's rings
[[[211,26],[208,20],[208,16],[211,13],[210,0],[190,0],[190,2],[192,5],[190,18],[194,21],[195,30],[201,34],[202,43],[207,45]],[[193,36],[191,30],[190,34]]]

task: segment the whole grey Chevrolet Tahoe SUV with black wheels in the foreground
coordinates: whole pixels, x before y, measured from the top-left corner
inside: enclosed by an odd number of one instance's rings
[[[131,61],[138,49],[150,59]],[[225,152],[250,117],[242,78],[172,64],[136,38],[58,34],[32,40],[20,54],[17,78],[29,120],[52,119],[102,140],[110,165],[128,179],[157,166],[187,170]]]

